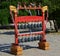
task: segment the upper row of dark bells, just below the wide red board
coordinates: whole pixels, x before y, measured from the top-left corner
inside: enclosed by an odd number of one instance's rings
[[[30,24],[19,24],[18,25],[18,28],[19,29],[27,29],[27,28],[41,28],[42,27],[42,24],[41,23],[30,23]]]

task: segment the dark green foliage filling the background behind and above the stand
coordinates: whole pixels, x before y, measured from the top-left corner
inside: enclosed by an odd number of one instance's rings
[[[49,19],[57,20],[58,25],[60,25],[60,0],[1,0],[0,3],[0,24],[5,25],[9,24],[9,6],[17,6],[18,2],[37,2],[41,3],[42,6],[47,5],[49,10]],[[19,11],[19,15],[27,15],[26,11]],[[32,11],[32,14],[35,15],[35,12]]]

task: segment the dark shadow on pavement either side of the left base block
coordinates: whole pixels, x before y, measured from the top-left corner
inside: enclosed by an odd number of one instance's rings
[[[23,50],[38,48],[36,46],[30,46],[30,45],[20,45],[20,46],[23,47]],[[0,52],[11,54],[10,48],[11,48],[11,44],[0,44]]]

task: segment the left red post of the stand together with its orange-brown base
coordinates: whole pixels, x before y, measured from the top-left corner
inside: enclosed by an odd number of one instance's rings
[[[18,28],[17,28],[17,12],[14,14],[14,26],[15,26],[15,43],[12,44],[11,46],[11,53],[14,55],[21,55],[22,54],[22,47],[19,46],[18,44]]]

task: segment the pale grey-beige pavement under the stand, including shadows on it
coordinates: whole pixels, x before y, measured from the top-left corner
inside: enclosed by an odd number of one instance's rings
[[[38,42],[20,43],[23,55],[20,56],[60,56],[60,33],[46,34],[50,43],[49,50],[38,49]],[[10,54],[11,43],[14,42],[14,30],[0,30],[0,56],[15,56]]]

